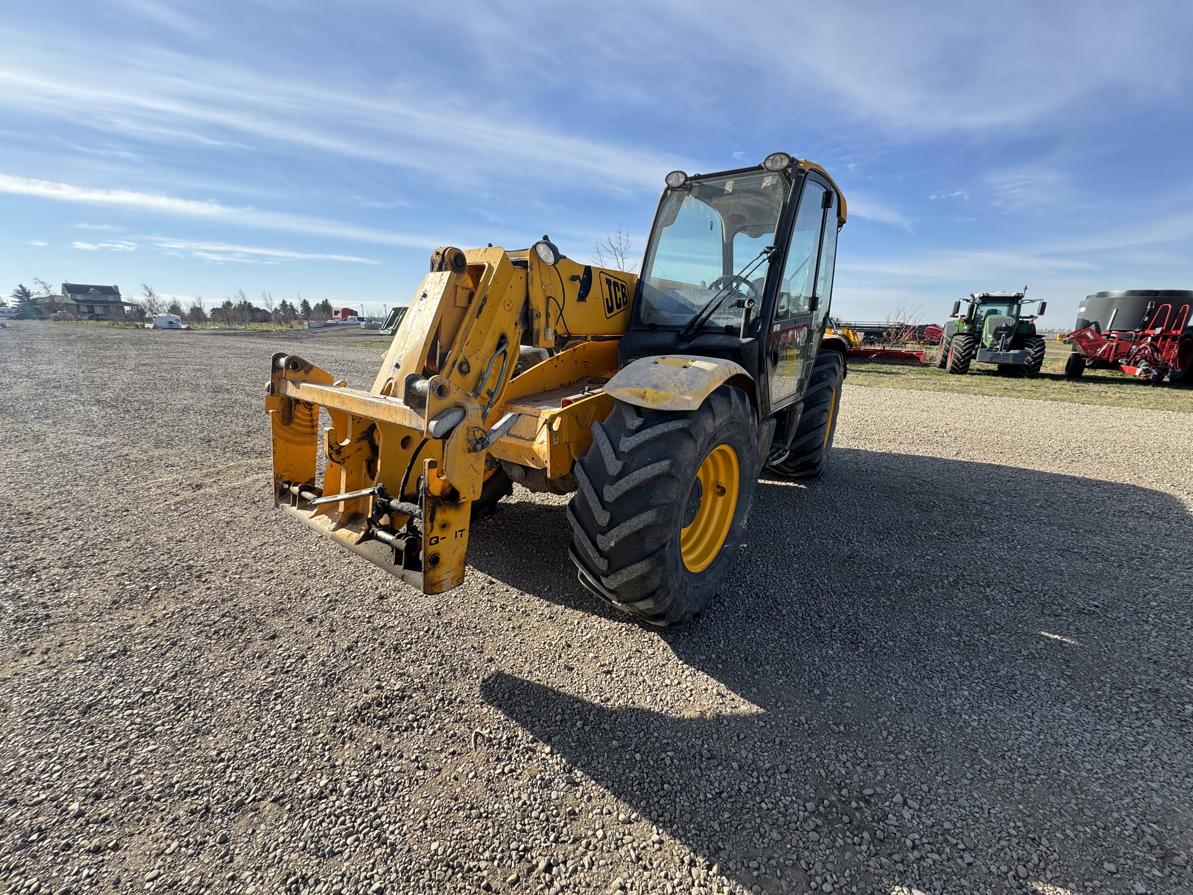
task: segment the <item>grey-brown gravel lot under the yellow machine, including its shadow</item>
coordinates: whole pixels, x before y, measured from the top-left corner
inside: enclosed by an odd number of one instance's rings
[[[0,329],[8,893],[1187,893],[1193,415],[847,387],[676,630],[562,500],[426,598],[271,507],[270,353]]]

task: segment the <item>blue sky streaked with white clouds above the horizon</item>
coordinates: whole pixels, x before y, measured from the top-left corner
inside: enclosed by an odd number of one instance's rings
[[[1193,288],[1193,5],[7,4],[0,271],[404,304],[431,251],[641,249],[672,168],[849,204],[834,309]]]

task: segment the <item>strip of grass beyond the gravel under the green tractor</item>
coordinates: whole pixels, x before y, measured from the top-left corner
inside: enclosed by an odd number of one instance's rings
[[[1030,397],[1037,401],[1069,401],[1193,413],[1193,388],[1169,385],[1167,382],[1160,387],[1151,387],[1111,370],[1087,370],[1080,379],[1065,379],[1064,362],[1069,357],[1069,346],[1058,341],[1047,342],[1044,369],[1037,379],[1000,376],[997,368],[990,364],[973,364],[969,375],[952,376],[937,369],[935,346],[926,348],[925,366],[879,364],[849,358],[848,382],[852,385],[872,388]]]

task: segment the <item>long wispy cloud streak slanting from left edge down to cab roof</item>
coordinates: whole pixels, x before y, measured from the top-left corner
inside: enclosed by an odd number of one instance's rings
[[[511,171],[540,180],[583,178],[607,190],[656,189],[660,172],[691,166],[667,153],[488,116],[409,91],[336,91],[178,54],[144,54],[120,73],[74,79],[0,63],[0,107],[56,113],[147,140],[251,149],[291,144],[340,158],[477,183]],[[241,141],[229,135],[241,135]],[[243,142],[247,141],[247,142]]]

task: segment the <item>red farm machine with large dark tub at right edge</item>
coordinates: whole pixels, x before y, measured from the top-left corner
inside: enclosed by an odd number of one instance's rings
[[[1086,296],[1077,308],[1064,376],[1078,378],[1086,368],[1121,370],[1158,385],[1168,376],[1193,383],[1193,291],[1123,289]]]

